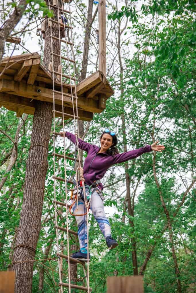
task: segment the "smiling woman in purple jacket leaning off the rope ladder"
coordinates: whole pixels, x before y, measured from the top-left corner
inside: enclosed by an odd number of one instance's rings
[[[63,137],[63,132],[61,132]],[[76,144],[76,136],[70,132],[65,132],[65,137],[70,139],[74,144]],[[115,147],[117,144],[117,137],[115,132],[105,129],[100,137],[101,146],[98,147],[93,144],[84,142],[78,139],[78,146],[83,151],[87,152],[87,157],[84,162],[84,178],[85,185],[87,187],[86,191],[90,190],[91,200],[90,209],[98,222],[101,232],[105,237],[106,244],[109,249],[113,249],[118,245],[118,242],[111,237],[110,223],[105,216],[104,206],[103,206],[103,185],[100,179],[103,178],[105,172],[114,164],[122,163],[130,159],[135,159],[143,153],[150,151],[163,151],[165,149],[162,145],[157,145],[154,142],[151,146],[147,145],[141,147],[140,149],[135,149],[133,151],[127,151],[125,153],[119,154],[118,149]],[[78,199],[78,209],[76,209],[76,204],[73,205],[73,211],[75,214],[85,214],[86,207],[84,199]],[[80,251],[74,253],[71,257],[77,258],[83,261],[87,260],[87,223],[86,216],[76,216],[76,221],[78,225],[78,239],[80,243]],[[90,258],[90,256],[89,256]]]

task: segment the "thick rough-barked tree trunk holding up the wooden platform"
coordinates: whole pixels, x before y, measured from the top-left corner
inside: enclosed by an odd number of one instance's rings
[[[59,6],[60,6],[60,0]],[[54,15],[57,15],[57,9]],[[62,34],[62,32],[61,32]],[[51,58],[51,30],[46,21],[45,48],[43,63],[48,67]],[[59,37],[58,24],[53,25],[52,35]],[[60,36],[62,37],[62,35]],[[53,53],[60,54],[59,41],[53,39]],[[53,56],[54,70],[58,70],[60,60]],[[41,229],[41,213],[46,172],[48,168],[48,142],[52,125],[53,104],[36,101],[31,134],[31,147],[26,162],[24,200],[21,211],[18,236],[14,249],[13,262],[33,260]],[[15,293],[32,291],[33,263],[13,263],[11,270],[16,270]]]

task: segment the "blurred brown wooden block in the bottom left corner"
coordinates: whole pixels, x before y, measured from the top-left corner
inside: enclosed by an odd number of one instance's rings
[[[0,292],[14,293],[15,271],[0,272]]]

